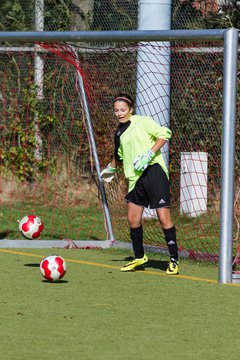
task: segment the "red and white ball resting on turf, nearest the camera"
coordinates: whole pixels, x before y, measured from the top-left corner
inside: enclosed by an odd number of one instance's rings
[[[40,264],[40,271],[48,281],[57,281],[64,277],[67,270],[65,260],[59,255],[45,257]]]

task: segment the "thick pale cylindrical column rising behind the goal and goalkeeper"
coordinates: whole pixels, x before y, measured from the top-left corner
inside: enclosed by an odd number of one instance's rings
[[[171,29],[171,3],[171,0],[139,0],[138,30]],[[137,58],[136,112],[153,116],[160,125],[169,126],[170,42],[141,44]],[[168,165],[167,143],[162,152]],[[143,214],[145,218],[152,218],[154,215],[155,211],[150,209],[145,209]]]

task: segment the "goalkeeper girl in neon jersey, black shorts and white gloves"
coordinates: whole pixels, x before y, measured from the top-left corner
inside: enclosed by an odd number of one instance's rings
[[[159,126],[151,117],[133,115],[134,101],[120,93],[113,101],[119,125],[114,135],[114,156],[102,170],[103,181],[110,182],[118,164],[123,165],[128,180],[125,199],[134,260],[121,268],[132,271],[144,267],[148,258],[143,248],[142,215],[144,208],[156,209],[168,246],[170,261],[166,273],[176,275],[178,247],[176,229],[170,215],[168,169],[161,153],[162,146],[171,138],[171,130]]]

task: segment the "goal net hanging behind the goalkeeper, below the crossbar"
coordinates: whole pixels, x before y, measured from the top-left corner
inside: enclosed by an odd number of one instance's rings
[[[23,239],[17,220],[29,213],[44,222],[42,241],[109,238],[77,80],[80,74],[101,168],[113,154],[117,121],[112,100],[118,92],[136,99],[137,113],[171,128],[173,136],[164,147],[164,157],[180,254],[217,259],[221,42],[22,44],[21,48],[1,48],[0,71],[2,239]],[[239,118],[237,126],[236,144]],[[235,252],[238,186],[236,181]],[[130,241],[126,192],[126,181],[118,169],[114,181],[105,184],[105,193],[115,239],[125,244]],[[156,213],[145,209],[143,223],[146,247],[167,252]]]

